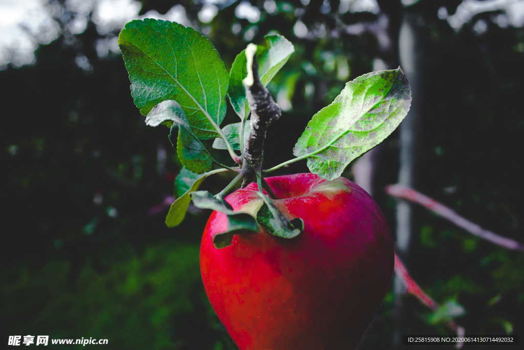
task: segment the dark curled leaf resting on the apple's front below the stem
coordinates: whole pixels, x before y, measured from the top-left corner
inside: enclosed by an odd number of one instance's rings
[[[257,195],[264,200],[264,204],[257,213],[257,222],[269,234],[282,238],[294,238],[304,231],[304,221],[301,218],[288,220],[268,196],[260,192],[257,192]]]

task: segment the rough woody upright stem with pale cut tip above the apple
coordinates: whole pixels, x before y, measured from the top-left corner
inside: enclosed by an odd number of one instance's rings
[[[251,132],[244,145],[242,171],[244,177],[242,187],[254,182],[257,176],[262,176],[262,161],[264,159],[264,142],[269,125],[280,118],[280,107],[275,103],[266,87],[258,77],[258,61],[255,51],[246,49],[248,62],[248,77],[244,79],[246,98],[251,109]]]

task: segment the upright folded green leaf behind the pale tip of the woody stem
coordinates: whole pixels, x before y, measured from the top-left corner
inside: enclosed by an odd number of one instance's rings
[[[278,34],[266,35],[266,46],[257,45],[258,76],[260,82],[266,86],[277,72],[288,61],[294,52],[293,44],[285,37]],[[247,76],[247,59],[245,50],[239,53],[230,71],[230,87],[228,95],[233,109],[241,120],[249,113],[249,105],[246,103],[246,91],[242,80]]]

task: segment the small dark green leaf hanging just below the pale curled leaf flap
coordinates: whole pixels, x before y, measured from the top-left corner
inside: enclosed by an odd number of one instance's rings
[[[211,170],[213,161],[208,150],[190,129],[179,125],[177,137],[177,154],[183,166],[196,174]]]

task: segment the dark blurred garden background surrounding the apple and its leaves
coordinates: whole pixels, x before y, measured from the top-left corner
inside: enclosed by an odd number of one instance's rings
[[[203,4],[180,5],[226,69],[249,41],[262,43],[271,30],[295,45],[270,85],[288,108],[269,132],[267,165],[292,156],[305,124],[346,81],[372,71],[377,58],[391,68],[402,63],[398,33],[409,20],[420,82],[414,94],[423,101],[410,151],[414,186],[482,227],[524,241],[524,30],[504,23],[503,7],[452,28],[442,8],[452,15],[461,1],[379,1],[379,13],[337,13],[340,3],[329,0],[276,0],[266,9],[264,1],[250,3],[261,9],[254,23],[235,16],[235,1],[217,5],[210,23],[199,20]],[[141,4],[140,14],[163,14],[177,3]],[[122,57],[96,50],[118,30],[101,33],[89,17],[86,29],[72,34],[68,23],[78,14],[64,1],[51,6],[58,38],[38,47],[32,65],[0,71],[2,342],[41,334],[108,338],[100,348],[111,349],[235,349],[200,280],[199,241],[209,212],[191,208],[181,226],[165,227],[167,206],[155,206],[172,195],[180,162],[165,128],[147,127],[135,108]],[[305,36],[297,20],[308,28]],[[235,121],[230,108],[226,122]],[[397,182],[400,147],[396,132],[374,161],[374,197],[394,235],[397,201],[384,188]],[[299,163],[286,172],[305,171]],[[344,175],[353,177],[351,166]],[[204,187],[226,183],[213,177]],[[524,334],[524,254],[421,207],[412,220],[402,258],[437,302],[464,310],[455,321],[466,335]],[[398,346],[396,334],[452,335],[445,326],[452,317],[391,290],[361,348]]]

